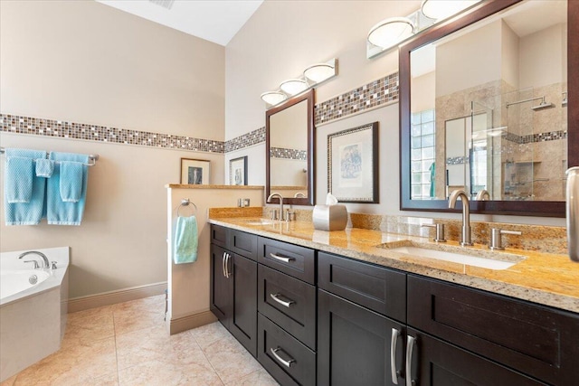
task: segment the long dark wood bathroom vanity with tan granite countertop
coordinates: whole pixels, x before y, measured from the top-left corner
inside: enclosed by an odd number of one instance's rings
[[[403,235],[211,222],[212,310],[283,385],[579,385],[579,266],[562,256],[493,270],[384,248]],[[539,278],[545,259],[559,278]]]

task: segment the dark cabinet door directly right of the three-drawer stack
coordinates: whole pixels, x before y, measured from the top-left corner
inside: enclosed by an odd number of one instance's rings
[[[403,325],[318,289],[318,385],[402,385],[404,343]]]

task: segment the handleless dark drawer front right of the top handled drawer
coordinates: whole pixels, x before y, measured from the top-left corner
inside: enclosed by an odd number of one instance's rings
[[[406,274],[318,252],[318,287],[396,320],[406,320]]]

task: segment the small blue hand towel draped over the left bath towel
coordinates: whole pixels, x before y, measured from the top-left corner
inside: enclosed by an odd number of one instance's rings
[[[6,156],[6,201],[30,202],[33,197],[33,159]]]

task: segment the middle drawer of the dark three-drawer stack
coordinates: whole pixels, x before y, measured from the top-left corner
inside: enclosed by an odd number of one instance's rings
[[[260,264],[258,310],[316,350],[316,287]]]

